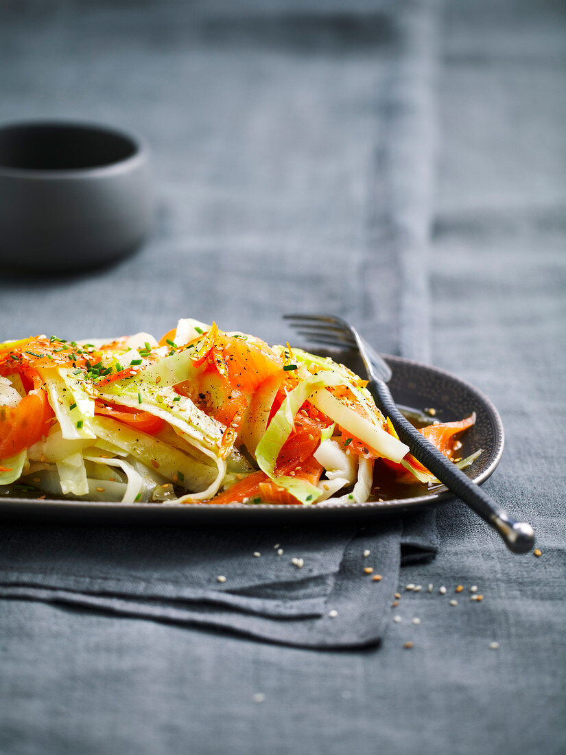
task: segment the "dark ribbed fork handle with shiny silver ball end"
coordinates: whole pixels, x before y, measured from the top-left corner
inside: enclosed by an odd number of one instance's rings
[[[512,519],[479,485],[472,482],[422,433],[419,433],[395,406],[391,392],[383,381],[370,381],[368,390],[381,411],[389,416],[399,438],[408,445],[414,458],[499,533],[509,550],[513,553],[527,553],[531,550],[534,546],[534,532],[530,524]]]

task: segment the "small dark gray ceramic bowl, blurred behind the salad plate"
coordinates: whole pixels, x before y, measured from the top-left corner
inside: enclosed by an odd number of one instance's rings
[[[147,149],[100,125],[0,127],[0,263],[65,271],[130,254],[152,216]]]

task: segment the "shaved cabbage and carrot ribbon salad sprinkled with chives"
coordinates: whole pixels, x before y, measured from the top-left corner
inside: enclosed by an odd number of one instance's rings
[[[421,428],[455,459],[474,424]],[[363,503],[435,478],[328,357],[181,319],[161,341],[0,344],[0,492],[174,504]]]

